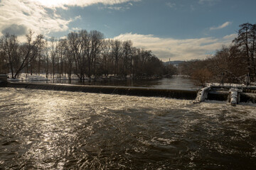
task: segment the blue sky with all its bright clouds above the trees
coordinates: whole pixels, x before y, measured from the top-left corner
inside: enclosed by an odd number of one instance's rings
[[[0,36],[98,30],[162,61],[204,59],[256,23],[255,0],[0,0]]]

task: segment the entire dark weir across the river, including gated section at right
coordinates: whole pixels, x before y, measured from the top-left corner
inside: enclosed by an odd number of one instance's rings
[[[195,100],[194,103],[200,103],[207,100],[214,101],[229,101],[230,88],[224,86],[210,86],[196,90],[179,90],[179,89],[154,89],[145,87],[127,87],[127,86],[88,86],[88,85],[73,85],[73,84],[31,84],[31,83],[7,83],[7,87],[25,88],[25,89],[42,89],[54,91],[80,91],[85,93],[100,93],[100,94],[119,94],[128,96],[148,96],[148,97],[166,97],[186,100]],[[239,88],[238,88],[239,89]],[[239,90],[237,96],[239,102],[256,103],[255,88],[247,87]],[[201,94],[201,96],[198,96]],[[231,95],[232,96],[232,95]],[[238,101],[233,101],[238,103]]]

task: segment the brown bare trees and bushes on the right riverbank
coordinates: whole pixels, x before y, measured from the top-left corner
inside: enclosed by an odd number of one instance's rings
[[[256,24],[243,23],[232,45],[223,47],[206,60],[192,60],[179,64],[181,74],[199,84],[220,83],[250,84],[256,81]]]

